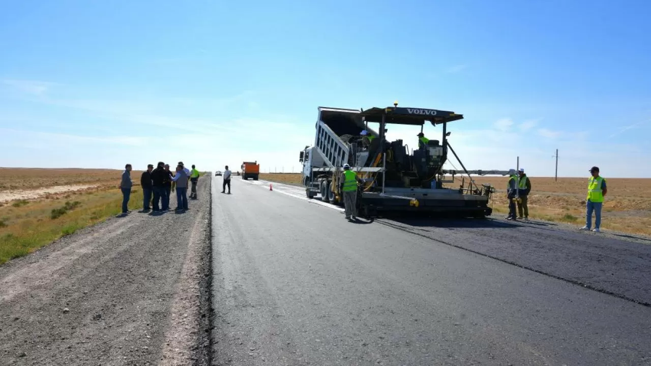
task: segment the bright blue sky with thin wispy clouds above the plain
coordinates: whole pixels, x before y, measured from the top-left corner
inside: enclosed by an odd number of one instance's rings
[[[651,177],[651,3],[21,1],[1,166],[299,171],[318,106],[451,110],[470,169]],[[417,130],[389,137],[415,145]],[[439,128],[426,127],[437,137]],[[453,162],[456,167],[458,163]]]

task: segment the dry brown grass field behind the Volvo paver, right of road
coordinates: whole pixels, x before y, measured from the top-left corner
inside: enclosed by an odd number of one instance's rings
[[[460,184],[460,177],[456,178]],[[603,204],[602,229],[651,235],[651,179],[605,178],[608,194]],[[301,184],[301,174],[260,174],[260,179]],[[492,184],[497,188],[492,200],[493,215],[506,214],[508,203],[504,189],[508,178],[476,176],[474,179],[477,184]],[[559,178],[558,182],[548,177],[530,179],[529,218],[570,223],[577,227],[585,225],[588,177]]]

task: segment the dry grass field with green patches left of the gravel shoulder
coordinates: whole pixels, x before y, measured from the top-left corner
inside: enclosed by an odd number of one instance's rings
[[[132,210],[143,204],[137,186],[141,173],[132,171]],[[109,169],[0,169],[0,197],[17,197],[10,196],[17,192],[33,197],[0,200],[0,264],[118,214],[121,174]],[[45,189],[52,186],[70,190],[51,193]],[[84,188],[74,190],[79,186]]]

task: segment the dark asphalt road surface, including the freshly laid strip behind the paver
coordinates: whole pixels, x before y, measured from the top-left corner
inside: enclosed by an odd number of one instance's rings
[[[353,224],[300,191],[234,178],[223,195],[214,179],[214,365],[651,365],[643,244],[493,221]],[[605,260],[581,258],[590,242]]]

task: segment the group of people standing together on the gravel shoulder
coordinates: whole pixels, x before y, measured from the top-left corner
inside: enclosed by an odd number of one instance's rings
[[[122,173],[122,213],[128,214],[129,199],[133,186],[131,179],[132,165],[126,164]],[[178,162],[176,170],[173,172],[169,169],[169,164],[158,162],[154,165],[147,165],[147,170],[143,172],[140,178],[140,184],[143,188],[143,212],[150,210],[154,212],[169,210],[169,199],[171,192],[176,191],[176,208],[174,210],[188,210],[187,188],[191,184],[190,197],[197,198],[197,181],[199,180],[199,171],[192,165],[192,170],[187,169],[183,162]],[[153,200],[152,200],[153,196]],[[151,207],[150,207],[151,203]]]

